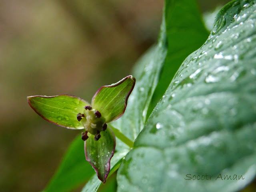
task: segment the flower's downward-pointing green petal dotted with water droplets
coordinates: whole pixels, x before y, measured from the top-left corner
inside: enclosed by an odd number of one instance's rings
[[[98,178],[105,183],[110,172],[110,159],[116,148],[116,137],[110,127],[102,131],[98,141],[90,137],[84,142],[86,160],[92,165]]]

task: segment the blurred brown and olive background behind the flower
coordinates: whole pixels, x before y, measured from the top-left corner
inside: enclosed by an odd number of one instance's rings
[[[200,0],[203,11],[228,0]],[[30,95],[91,100],[158,37],[164,0],[0,0],[0,190],[42,190],[81,131],[41,119]],[[79,190],[78,190],[79,191]]]

